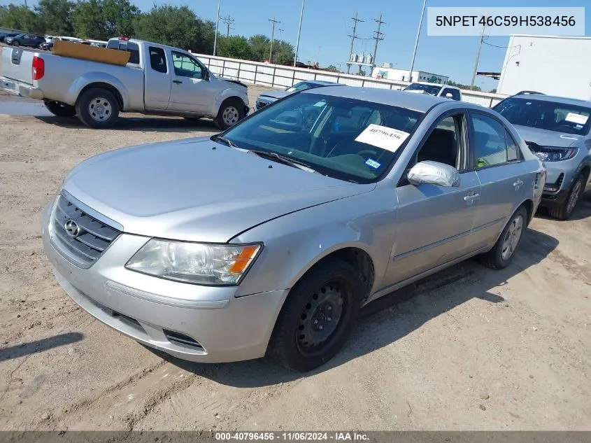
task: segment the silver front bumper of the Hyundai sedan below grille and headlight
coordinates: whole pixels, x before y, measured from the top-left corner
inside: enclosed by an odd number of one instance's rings
[[[88,269],[71,264],[51,239],[52,205],[42,237],[55,277],[89,314],[122,334],[171,356],[202,363],[260,358],[287,290],[234,297],[235,287],[166,281],[124,268],[148,239],[120,234]],[[171,297],[174,295],[174,297]]]

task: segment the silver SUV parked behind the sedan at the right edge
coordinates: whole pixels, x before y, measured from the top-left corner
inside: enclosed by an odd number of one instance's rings
[[[569,218],[591,188],[591,101],[518,94],[493,107],[513,123],[548,169],[541,206],[550,216]]]

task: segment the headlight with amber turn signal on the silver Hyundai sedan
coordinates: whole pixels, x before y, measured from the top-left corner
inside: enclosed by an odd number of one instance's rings
[[[201,285],[236,285],[260,244],[203,244],[151,239],[125,265],[131,271]]]

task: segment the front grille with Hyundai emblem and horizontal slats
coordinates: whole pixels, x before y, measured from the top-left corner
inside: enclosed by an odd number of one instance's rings
[[[57,197],[51,223],[52,240],[78,267],[90,267],[120,234],[76,207],[64,195]]]

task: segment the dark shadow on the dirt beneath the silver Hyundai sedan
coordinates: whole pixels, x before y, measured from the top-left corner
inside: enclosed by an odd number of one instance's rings
[[[341,352],[326,365],[305,374],[290,372],[269,358],[200,364],[152,351],[184,370],[228,386],[252,388],[310,377],[396,342],[432,318],[473,298],[504,303],[503,297],[490,290],[505,285],[516,274],[541,262],[557,246],[554,237],[529,229],[515,259],[506,269],[495,271],[483,267],[477,260],[467,260],[371,302],[362,309],[357,326]]]

